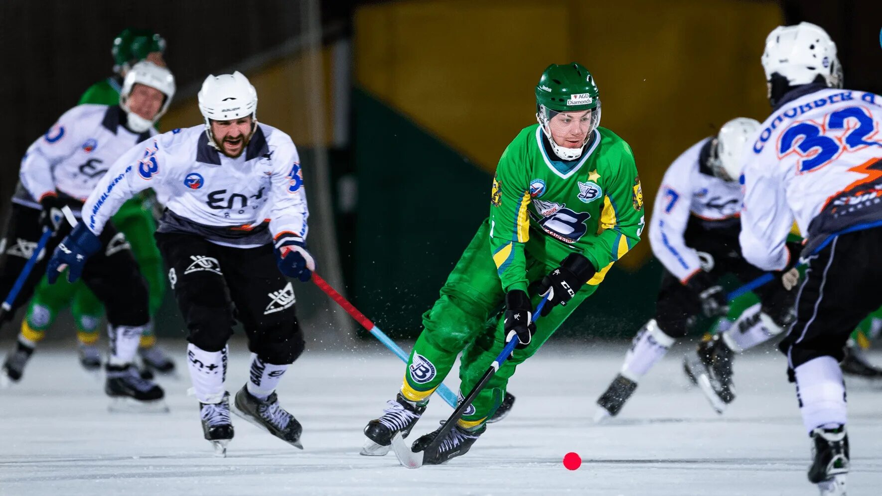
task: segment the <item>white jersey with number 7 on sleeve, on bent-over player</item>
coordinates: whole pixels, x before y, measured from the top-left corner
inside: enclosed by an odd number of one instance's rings
[[[681,281],[701,269],[698,252],[685,241],[695,220],[717,223],[739,215],[741,186],[714,176],[706,161],[711,138],[693,144],[668,167],[655,196],[649,244],[665,269]]]

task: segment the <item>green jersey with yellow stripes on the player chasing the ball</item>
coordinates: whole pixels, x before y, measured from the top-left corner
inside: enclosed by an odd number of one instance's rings
[[[503,289],[527,291],[524,250],[551,265],[572,251],[598,285],[643,231],[643,192],[631,147],[597,128],[579,159],[551,151],[539,124],[520,131],[499,159],[490,198],[490,248]]]

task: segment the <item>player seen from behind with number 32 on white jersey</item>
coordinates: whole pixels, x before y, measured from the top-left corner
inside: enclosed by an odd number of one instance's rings
[[[848,335],[882,304],[882,96],[842,90],[836,45],[818,26],[780,26],[762,56],[773,113],[745,151],[744,257],[764,270],[789,263],[796,218],[807,269],[796,321],[779,347],[806,433],[808,476],[821,494],[844,494],[848,472],[845,384]]]

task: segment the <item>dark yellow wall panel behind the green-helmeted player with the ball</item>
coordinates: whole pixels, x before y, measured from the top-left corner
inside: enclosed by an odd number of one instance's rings
[[[736,0],[380,4],[356,12],[355,78],[492,171],[535,122],[542,70],[583,63],[601,125],[632,145],[651,208],[679,153],[730,118],[768,114],[759,56],[781,23],[775,4]],[[620,265],[648,255],[639,243]]]

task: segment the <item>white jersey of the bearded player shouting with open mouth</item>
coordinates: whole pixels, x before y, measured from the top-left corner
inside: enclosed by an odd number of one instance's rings
[[[258,123],[236,159],[208,144],[204,125],[136,145],[86,200],[86,226],[101,233],[123,202],[147,188],[165,203],[160,233],[192,233],[239,248],[262,246],[284,233],[306,238],[300,157],[287,134],[265,124]]]

